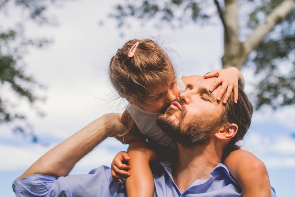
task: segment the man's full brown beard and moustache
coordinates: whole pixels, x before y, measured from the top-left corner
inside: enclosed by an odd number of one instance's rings
[[[186,108],[183,101],[175,99],[181,105],[181,117],[179,121],[169,120],[175,110],[167,108],[166,114],[161,114],[157,119],[157,125],[173,139],[184,147],[190,147],[198,144],[205,144],[209,141],[209,136],[214,129],[220,126],[221,120],[217,117],[214,120],[204,120],[201,115],[195,115],[189,123],[184,123]],[[173,102],[171,101],[170,104]],[[170,106],[170,104],[168,106]]]

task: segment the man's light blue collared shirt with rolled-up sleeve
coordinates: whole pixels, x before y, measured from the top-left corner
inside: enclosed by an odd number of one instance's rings
[[[153,168],[155,181],[154,196],[241,196],[240,186],[233,180],[227,167],[219,163],[207,180],[195,180],[181,193],[173,181],[171,162],[161,162]],[[30,175],[13,182],[16,196],[126,196],[125,184],[115,183],[111,169],[100,166],[85,175],[56,177]],[[272,188],[272,196],[275,191]]]

